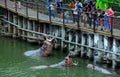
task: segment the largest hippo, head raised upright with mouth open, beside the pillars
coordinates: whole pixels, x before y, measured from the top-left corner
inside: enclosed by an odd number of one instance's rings
[[[25,56],[29,57],[40,57],[40,56],[50,56],[52,54],[53,48],[53,38],[48,39],[48,36],[45,35],[46,39],[39,49],[26,51],[24,53]]]

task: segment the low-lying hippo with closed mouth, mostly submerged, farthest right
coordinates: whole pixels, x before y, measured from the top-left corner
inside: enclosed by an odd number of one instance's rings
[[[114,72],[114,71],[109,71],[107,69],[104,69],[102,67],[99,67],[99,66],[96,66],[96,65],[93,65],[93,64],[88,64],[87,68],[99,71],[99,72],[101,72],[103,74],[107,74],[107,75],[117,75],[116,72]]]

